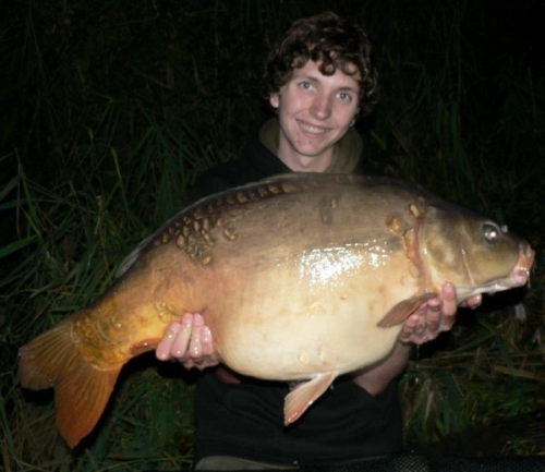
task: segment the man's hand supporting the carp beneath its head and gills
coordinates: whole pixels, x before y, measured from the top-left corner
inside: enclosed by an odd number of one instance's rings
[[[481,294],[473,295],[465,305],[475,308],[481,304]],[[447,282],[443,286],[440,299],[428,300],[405,319],[399,340],[415,344],[432,341],[440,332],[452,328],[457,308],[456,288]]]

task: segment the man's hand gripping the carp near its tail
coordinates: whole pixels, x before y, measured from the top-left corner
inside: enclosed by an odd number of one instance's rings
[[[185,368],[203,370],[218,364],[210,328],[198,313],[186,313],[181,322],[171,323],[155,355],[160,361],[180,361]]]

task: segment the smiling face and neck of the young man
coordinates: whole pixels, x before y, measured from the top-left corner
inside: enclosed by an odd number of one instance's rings
[[[354,122],[360,85],[337,70],[323,75],[319,62],[308,61],[270,96],[280,122],[280,159],[294,171],[323,171],[332,146]]]

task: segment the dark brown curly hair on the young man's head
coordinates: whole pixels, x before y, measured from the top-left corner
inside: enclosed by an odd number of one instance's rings
[[[319,71],[337,70],[355,76],[360,85],[360,114],[371,113],[378,102],[378,74],[371,60],[371,43],[356,24],[325,12],[296,21],[270,51],[265,70],[267,97],[280,92],[295,69],[308,60],[320,62]],[[354,69],[355,66],[355,69]]]

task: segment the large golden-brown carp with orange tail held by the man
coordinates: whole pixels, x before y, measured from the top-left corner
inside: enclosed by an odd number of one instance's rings
[[[408,182],[290,174],[204,198],[146,239],[90,306],[21,348],[24,387],[55,387],[71,446],[95,426],[123,364],[202,313],[221,362],[306,380],[295,421],[340,374],[392,350],[441,285],[458,302],[523,286],[534,252],[489,219]]]

